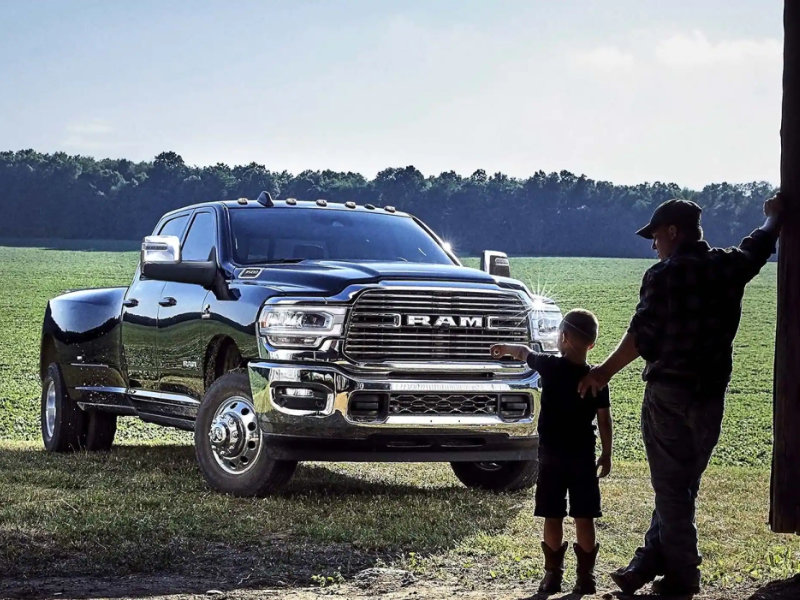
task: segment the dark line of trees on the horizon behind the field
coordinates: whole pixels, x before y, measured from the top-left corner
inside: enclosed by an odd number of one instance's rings
[[[526,179],[477,170],[425,177],[413,166],[369,180],[353,172],[271,171],[255,162],[196,167],[175,152],[152,162],[62,152],[0,152],[0,237],[137,240],[165,212],[208,200],[275,198],[393,205],[415,214],[460,255],[496,249],[519,256],[652,256],[634,231],[664,200],[703,207],[706,238],[736,244],[762,218],[767,182],[615,185],[569,171]]]

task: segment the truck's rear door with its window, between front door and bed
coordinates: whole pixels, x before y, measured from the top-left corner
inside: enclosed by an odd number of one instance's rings
[[[170,218],[156,228],[158,235],[181,237],[189,213]],[[154,391],[158,386],[158,302],[162,298],[163,281],[142,277],[137,267],[122,303],[122,350],[131,390]]]

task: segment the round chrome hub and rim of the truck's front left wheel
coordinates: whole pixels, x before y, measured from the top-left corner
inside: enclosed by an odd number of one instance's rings
[[[240,475],[252,467],[261,452],[253,403],[234,396],[220,404],[208,430],[208,441],[214,459],[225,472]]]

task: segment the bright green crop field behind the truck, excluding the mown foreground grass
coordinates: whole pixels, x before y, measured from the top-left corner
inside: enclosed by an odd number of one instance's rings
[[[37,440],[39,334],[47,300],[80,287],[127,285],[136,252],[88,252],[0,247],[0,431],[2,438]],[[474,259],[468,264],[475,265]],[[647,260],[517,258],[515,277],[552,295],[562,309],[584,307],[600,320],[592,353],[600,361],[627,326]],[[745,296],[736,339],[734,378],[716,464],[767,466],[772,435],[772,352],[775,339],[775,264],[768,264]],[[644,389],[640,361],[612,386],[617,458],[642,460],[639,406]],[[120,442],[162,439],[170,430],[123,419]],[[171,440],[186,439],[170,434]]]

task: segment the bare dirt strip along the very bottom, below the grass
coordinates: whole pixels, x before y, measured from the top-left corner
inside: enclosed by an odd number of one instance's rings
[[[587,598],[636,598],[655,600],[661,598],[644,593],[636,596],[622,596],[618,592],[601,590],[597,596]],[[386,600],[448,599],[478,600],[526,600],[539,598],[534,593],[534,583],[526,589],[514,588],[465,589],[457,584],[420,581],[407,571],[398,569],[371,568],[362,571],[351,581],[325,587],[261,587],[255,581],[219,581],[197,577],[154,575],[105,578],[41,578],[7,579],[0,578],[0,598],[80,598],[127,600],[133,598],[188,600],[204,598],[209,600],[256,598],[281,598],[286,600],[316,600],[335,598],[383,598]],[[577,600],[574,594],[550,596],[553,600]],[[757,588],[744,586],[738,590],[725,592],[708,591],[695,596],[697,600],[800,600],[800,575],[787,580],[774,581]]]

